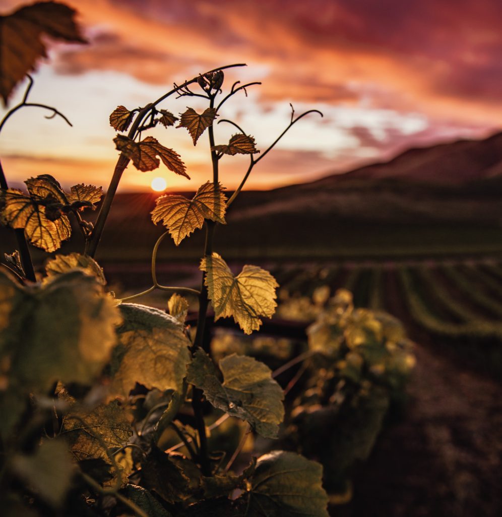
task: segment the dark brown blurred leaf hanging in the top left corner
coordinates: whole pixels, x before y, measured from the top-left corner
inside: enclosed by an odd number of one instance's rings
[[[12,90],[41,57],[47,57],[44,36],[85,43],[75,10],[56,2],[38,2],[0,16],[0,95],[4,105]]]

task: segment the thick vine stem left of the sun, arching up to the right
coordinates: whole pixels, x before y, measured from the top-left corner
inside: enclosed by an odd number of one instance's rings
[[[240,67],[240,66],[246,66],[246,64],[237,63],[234,65],[225,65],[222,67],[214,68],[213,70],[209,70],[208,72],[205,72],[205,73],[211,73],[211,72],[216,72],[218,70],[225,70],[227,68],[235,68],[235,67]],[[169,90],[169,92],[167,92],[163,96],[159,97],[156,101],[154,101],[150,104],[147,104],[144,108],[142,108],[139,111],[138,115],[136,116],[136,119],[134,120],[134,123],[131,126],[131,130],[129,130],[129,133],[127,134],[128,138],[130,138],[131,140],[134,140],[136,138],[138,128],[140,128],[143,119],[148,115],[149,111],[151,111],[152,109],[155,109],[157,104],[159,104],[163,100],[167,99],[172,94],[178,92],[180,89],[188,86],[189,84],[196,83],[198,79],[199,79],[199,75],[197,75],[197,77],[190,79],[190,81],[185,81],[180,86],[176,85],[174,88]],[[119,186],[122,174],[125,171],[125,168],[127,167],[128,163],[129,163],[129,159],[123,153],[121,153],[119,156],[119,159],[117,160],[117,164],[115,165],[114,175],[111,178],[110,185],[108,187],[108,190],[106,191],[106,194],[105,194],[105,197],[103,200],[103,204],[101,205],[101,208],[100,208],[100,211],[98,214],[98,219],[96,219],[96,224],[95,224],[94,230],[92,231],[92,234],[91,234],[89,249],[87,250],[88,251],[87,254],[90,257],[94,257],[94,255],[96,254],[96,251],[98,250],[98,246],[99,246],[99,243],[101,240],[101,235],[102,235],[103,229],[105,227],[106,219],[108,218],[111,204],[112,204],[115,194],[117,192],[117,187]]]

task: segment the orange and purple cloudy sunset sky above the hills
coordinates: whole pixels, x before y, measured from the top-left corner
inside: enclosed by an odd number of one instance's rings
[[[247,63],[226,74],[262,81],[236,95],[221,118],[234,119],[265,149],[297,113],[300,121],[257,165],[248,188],[270,188],[386,160],[411,146],[483,138],[502,125],[502,3],[497,0],[75,0],[88,45],[51,45],[34,74],[30,100],[54,105],[61,119],[30,108],[0,136],[12,186],[53,174],[64,186],[106,188],[118,151],[108,116],[132,109],[172,86],[220,65]],[[23,5],[0,0],[2,13]],[[22,98],[24,84],[11,100]],[[175,114],[202,99],[161,105]],[[217,143],[230,127],[217,126]],[[185,129],[158,128],[158,140],[187,164],[188,181],[164,165],[141,173],[129,165],[122,190],[191,190],[210,175],[207,136],[193,147]],[[247,158],[220,161],[221,180],[235,187]]]

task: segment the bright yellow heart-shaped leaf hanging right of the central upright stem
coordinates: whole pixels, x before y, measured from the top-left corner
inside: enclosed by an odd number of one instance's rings
[[[218,253],[205,256],[199,269],[206,272],[204,282],[215,310],[215,321],[233,316],[240,328],[250,334],[260,328],[260,316],[270,317],[275,312],[279,284],[265,269],[246,265],[234,277]]]

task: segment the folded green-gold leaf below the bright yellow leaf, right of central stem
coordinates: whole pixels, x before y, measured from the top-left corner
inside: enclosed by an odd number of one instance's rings
[[[198,349],[188,367],[187,382],[204,391],[206,399],[231,416],[246,420],[266,438],[277,438],[284,418],[284,393],[268,366],[248,356],[232,354],[219,361],[220,383],[209,356]]]

